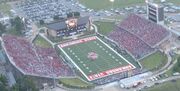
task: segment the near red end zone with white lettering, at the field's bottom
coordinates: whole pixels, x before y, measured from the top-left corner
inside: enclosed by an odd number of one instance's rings
[[[101,73],[98,73],[98,74],[89,75],[88,79],[90,81],[92,81],[92,80],[95,80],[95,79],[98,79],[98,78],[102,78],[102,77],[109,76],[109,75],[112,75],[112,74],[125,72],[125,71],[132,70],[132,69],[134,69],[134,67],[132,65],[127,65],[127,66],[124,66],[124,67],[110,69],[110,70],[107,70],[107,71],[104,71],[104,72],[101,72]]]

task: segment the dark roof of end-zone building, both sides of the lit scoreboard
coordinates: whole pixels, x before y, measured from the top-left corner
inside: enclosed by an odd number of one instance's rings
[[[48,29],[52,29],[52,30],[61,30],[61,29],[66,29],[67,28],[67,24],[64,21],[60,21],[60,22],[56,22],[56,23],[50,23],[47,25]],[[83,24],[87,24],[89,21],[89,16],[85,16],[85,17],[80,17],[77,20],[77,25],[83,25]]]

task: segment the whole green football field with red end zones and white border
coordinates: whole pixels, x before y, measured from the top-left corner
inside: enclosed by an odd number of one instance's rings
[[[89,81],[136,68],[96,36],[58,47]]]

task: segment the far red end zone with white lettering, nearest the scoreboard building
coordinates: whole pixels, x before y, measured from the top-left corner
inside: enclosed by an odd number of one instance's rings
[[[59,46],[61,48],[63,48],[63,47],[72,46],[75,44],[85,43],[85,42],[92,41],[92,40],[96,40],[96,37],[93,36],[93,37],[83,38],[83,39],[79,39],[79,40],[74,40],[71,42],[66,42],[66,43],[60,44]]]

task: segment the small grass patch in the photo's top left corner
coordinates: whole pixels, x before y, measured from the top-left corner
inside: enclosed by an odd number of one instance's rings
[[[0,11],[6,15],[10,15],[11,6],[7,3],[0,3]]]

